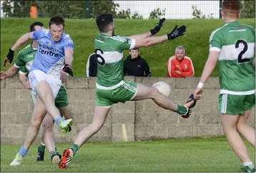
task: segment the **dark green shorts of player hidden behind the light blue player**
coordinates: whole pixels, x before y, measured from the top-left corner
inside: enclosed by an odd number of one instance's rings
[[[33,102],[36,102],[36,92],[34,92],[32,89],[30,90],[31,97]],[[59,92],[55,98],[55,106],[56,107],[67,107],[69,105],[69,99],[67,97],[67,89],[61,85],[61,88],[59,89]]]

